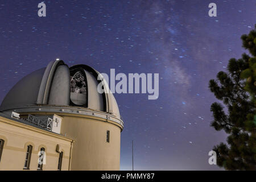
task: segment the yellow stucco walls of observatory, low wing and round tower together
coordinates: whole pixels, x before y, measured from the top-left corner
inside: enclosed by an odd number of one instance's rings
[[[75,140],[75,142],[72,143],[71,170],[119,170],[122,126],[118,123],[114,123],[107,119],[79,114],[48,112],[20,114],[24,118],[27,117],[27,114],[57,114],[63,118],[61,122],[61,135]],[[13,130],[13,132],[10,130]],[[106,141],[107,130],[110,131],[110,142]],[[19,135],[17,135],[17,133],[19,133]],[[9,151],[13,152],[11,155],[14,155],[15,153],[19,160],[19,165],[16,166],[14,159],[10,159],[8,154],[3,154],[6,155],[6,158],[3,159],[3,161],[1,160],[0,170],[20,170],[23,168],[27,150],[27,147],[25,147],[26,141],[30,141],[35,145],[35,147],[33,147],[34,152],[31,158],[31,170],[37,169],[38,151],[40,150],[38,146],[40,144],[44,144],[46,146],[47,165],[43,167],[44,170],[57,169],[59,157],[59,154],[55,151],[57,144],[60,144],[64,149],[63,170],[69,169],[68,159],[71,148],[70,141],[46,136],[44,134],[38,134],[38,131],[28,131],[27,129],[20,130],[18,128],[13,129],[12,127],[10,129],[10,126],[3,125],[3,123],[1,124],[0,118],[0,138],[1,136],[7,136],[7,140],[9,140],[9,138],[11,139],[12,142],[7,142],[7,148],[5,147],[4,151],[5,153]],[[8,146],[19,148],[19,150],[11,150]],[[7,164],[8,167],[2,167],[1,163]]]

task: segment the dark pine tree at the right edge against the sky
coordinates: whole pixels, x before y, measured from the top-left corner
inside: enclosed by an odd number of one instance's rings
[[[227,170],[256,170],[256,24],[248,35],[241,36],[241,59],[230,59],[227,72],[219,72],[209,81],[209,89],[225,107],[214,102],[210,107],[211,126],[228,134],[227,143],[213,147],[217,165]]]

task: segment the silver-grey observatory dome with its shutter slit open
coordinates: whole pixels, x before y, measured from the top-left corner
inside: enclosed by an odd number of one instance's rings
[[[51,61],[46,68],[16,83],[4,98],[0,111],[31,105],[72,106],[103,111],[120,119],[113,94],[97,91],[103,80],[100,73],[88,65],[68,67],[62,60]],[[108,89],[108,84],[103,82],[103,87]]]

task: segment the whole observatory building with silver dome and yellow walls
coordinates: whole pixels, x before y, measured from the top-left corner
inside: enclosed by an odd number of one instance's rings
[[[119,170],[123,121],[100,73],[51,61],[0,106],[0,170]]]

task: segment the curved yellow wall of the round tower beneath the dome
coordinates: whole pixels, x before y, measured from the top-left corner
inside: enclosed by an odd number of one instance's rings
[[[61,115],[61,134],[75,139],[71,170],[119,170],[121,129],[96,117]],[[110,141],[106,142],[106,131]]]

